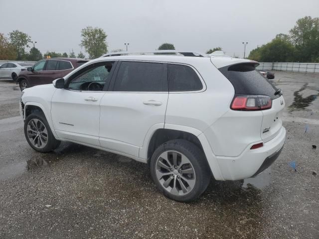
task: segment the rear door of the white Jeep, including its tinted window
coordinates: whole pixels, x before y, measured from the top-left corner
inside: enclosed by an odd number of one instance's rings
[[[138,157],[148,130],[155,124],[164,126],[167,65],[138,61],[118,65],[100,104],[100,144]]]

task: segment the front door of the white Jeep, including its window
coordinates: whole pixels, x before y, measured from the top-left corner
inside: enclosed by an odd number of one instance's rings
[[[66,79],[51,101],[53,127],[59,138],[100,146],[100,102],[114,62],[93,63]]]

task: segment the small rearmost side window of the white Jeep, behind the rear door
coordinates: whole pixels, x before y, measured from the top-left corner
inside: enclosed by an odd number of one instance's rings
[[[203,85],[196,72],[185,65],[168,65],[169,91],[199,91]]]

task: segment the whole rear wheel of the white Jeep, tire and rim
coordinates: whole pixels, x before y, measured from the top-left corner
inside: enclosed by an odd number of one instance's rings
[[[211,179],[204,153],[184,139],[161,144],[153,153],[150,166],[157,188],[166,197],[179,202],[190,202],[198,198]]]

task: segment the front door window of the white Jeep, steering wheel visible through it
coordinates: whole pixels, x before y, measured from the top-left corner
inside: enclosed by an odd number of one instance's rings
[[[78,91],[102,91],[110,83],[114,62],[96,63],[78,73],[68,84],[68,89]]]

